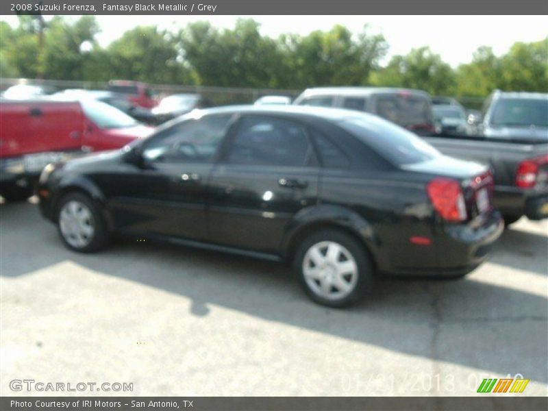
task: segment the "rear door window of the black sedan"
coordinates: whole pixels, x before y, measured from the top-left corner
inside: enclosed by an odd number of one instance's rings
[[[227,158],[231,164],[306,166],[314,151],[299,123],[269,116],[241,120]]]

